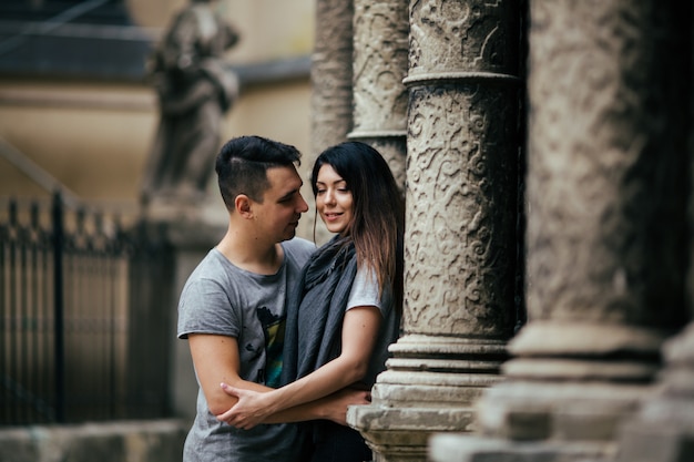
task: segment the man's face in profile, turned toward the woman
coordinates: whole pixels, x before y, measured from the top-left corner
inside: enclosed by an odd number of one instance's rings
[[[267,170],[269,187],[263,195],[263,203],[253,203],[258,226],[258,238],[274,243],[287,240],[296,235],[299,217],[308,211],[302,193],[302,178],[296,168],[272,167]]]

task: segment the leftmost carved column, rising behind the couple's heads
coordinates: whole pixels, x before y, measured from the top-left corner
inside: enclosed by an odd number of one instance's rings
[[[310,172],[314,161],[325,148],[347,141],[353,124],[353,0],[316,0],[316,38],[310,66],[312,81],[312,152],[302,162]],[[308,173],[305,182],[308,182]],[[304,196],[315,209],[313,194]],[[310,236],[315,214],[305,214],[300,222]],[[330,235],[317,226],[316,240],[323,243]]]

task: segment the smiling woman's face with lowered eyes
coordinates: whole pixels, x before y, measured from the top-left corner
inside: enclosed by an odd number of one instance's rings
[[[325,164],[316,178],[316,208],[330,233],[343,234],[354,216],[354,201],[347,182]]]

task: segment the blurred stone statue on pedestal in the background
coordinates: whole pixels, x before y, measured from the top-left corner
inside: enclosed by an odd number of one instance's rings
[[[238,95],[224,52],[237,31],[215,13],[215,0],[193,0],[173,20],[150,61],[160,125],[144,173],[142,203],[200,202],[214,170],[224,113]]]

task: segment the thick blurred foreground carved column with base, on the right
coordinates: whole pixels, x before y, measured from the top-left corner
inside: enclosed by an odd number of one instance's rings
[[[650,391],[686,319],[687,3],[531,0],[529,324],[480,401],[498,440],[433,461],[608,459]]]

